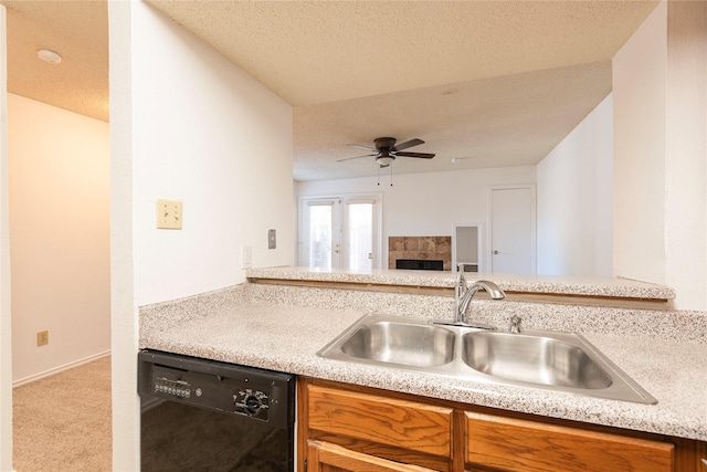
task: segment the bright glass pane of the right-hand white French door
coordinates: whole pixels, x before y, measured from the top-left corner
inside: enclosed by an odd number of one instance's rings
[[[347,209],[348,269],[370,270],[373,266],[373,204],[349,203]]]

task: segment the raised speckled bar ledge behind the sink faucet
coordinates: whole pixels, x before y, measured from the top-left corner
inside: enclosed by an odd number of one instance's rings
[[[318,271],[309,268],[279,266],[249,269],[249,279],[272,279],[309,282],[361,283],[380,285],[409,285],[426,287],[453,287],[454,274],[443,271],[372,270],[351,272],[346,270]],[[467,273],[468,280],[487,279],[507,292],[609,296],[641,300],[673,300],[671,287],[627,279],[568,277],[552,275],[515,275]]]

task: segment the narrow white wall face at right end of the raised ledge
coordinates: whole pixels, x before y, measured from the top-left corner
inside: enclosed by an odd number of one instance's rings
[[[666,283],[666,21],[662,2],[613,60],[614,274],[659,284]]]

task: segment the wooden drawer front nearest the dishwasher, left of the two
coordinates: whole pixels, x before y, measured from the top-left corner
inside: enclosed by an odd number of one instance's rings
[[[309,428],[449,457],[452,409],[309,386]]]

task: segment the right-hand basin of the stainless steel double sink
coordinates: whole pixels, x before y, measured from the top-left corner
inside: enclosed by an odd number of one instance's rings
[[[612,384],[606,370],[576,343],[498,332],[468,333],[463,339],[464,363],[490,376],[581,389]]]

